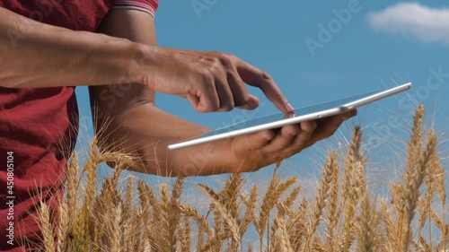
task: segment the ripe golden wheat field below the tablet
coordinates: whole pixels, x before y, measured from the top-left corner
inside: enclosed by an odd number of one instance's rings
[[[66,169],[66,196],[50,218],[40,204],[45,251],[449,251],[445,168],[438,137],[423,130],[419,106],[409,133],[402,176],[389,197],[370,192],[355,126],[344,155],[330,152],[312,197],[297,178],[275,172],[266,190],[243,190],[242,174],[223,187],[198,184],[206,210],[181,200],[185,180],[149,185],[121,171],[132,160],[100,153],[95,139],[82,167],[76,153]],[[119,163],[99,182],[101,162]],[[81,171],[81,172],[80,172]],[[126,180],[126,183],[121,183]],[[125,185],[123,185],[125,184]],[[50,220],[56,220],[51,222]]]

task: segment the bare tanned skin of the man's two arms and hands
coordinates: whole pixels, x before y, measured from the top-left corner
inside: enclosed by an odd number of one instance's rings
[[[26,34],[12,49],[12,40],[0,33],[0,63],[8,62],[0,70],[0,86],[87,83],[102,150],[136,156],[141,162],[129,169],[139,172],[197,176],[254,171],[332,135],[357,113],[169,152],[168,145],[210,129],[157,109],[154,91],[186,98],[198,112],[255,109],[260,101],[246,91],[247,83],[259,87],[281,111],[293,108],[269,74],[236,56],[156,47],[153,18],[147,13],[113,10],[101,22],[103,34],[95,34],[33,22],[0,8],[0,30]]]

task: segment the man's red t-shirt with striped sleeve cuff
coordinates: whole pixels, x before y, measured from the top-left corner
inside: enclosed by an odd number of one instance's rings
[[[157,5],[158,0],[0,0],[0,7],[36,21],[87,31],[95,31],[112,8],[154,15]],[[32,216],[40,200],[57,216],[66,156],[74,149],[77,128],[75,87],[0,87],[0,251],[22,251],[17,239],[23,237],[40,239]],[[13,245],[8,243],[9,222]]]

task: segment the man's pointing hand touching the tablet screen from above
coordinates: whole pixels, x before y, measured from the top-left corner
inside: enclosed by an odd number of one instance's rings
[[[245,83],[260,88],[282,112],[293,110],[269,74],[236,56],[171,48],[152,48],[147,56],[141,64],[142,83],[187,98],[198,112],[256,109],[260,100]]]

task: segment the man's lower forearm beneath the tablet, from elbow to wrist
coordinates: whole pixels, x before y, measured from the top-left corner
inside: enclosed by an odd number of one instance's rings
[[[217,141],[169,151],[167,146],[209,131],[157,109],[152,104],[136,106],[117,115],[104,133],[105,145],[131,153],[142,161],[132,170],[160,176],[202,176],[235,172],[231,166],[231,141]],[[245,170],[240,170],[245,171]],[[246,170],[248,171],[248,170]]]

